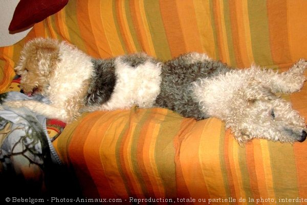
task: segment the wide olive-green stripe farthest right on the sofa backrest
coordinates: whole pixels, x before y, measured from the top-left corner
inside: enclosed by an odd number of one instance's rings
[[[248,1],[248,14],[255,63],[260,66],[273,65],[266,1]]]

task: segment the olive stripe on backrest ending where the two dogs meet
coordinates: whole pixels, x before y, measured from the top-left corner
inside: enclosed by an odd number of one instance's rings
[[[158,1],[145,0],[144,7],[156,55],[161,60],[169,60],[171,52],[164,29],[160,4]]]

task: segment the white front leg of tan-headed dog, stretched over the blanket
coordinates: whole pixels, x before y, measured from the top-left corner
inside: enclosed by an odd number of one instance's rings
[[[67,111],[65,109],[48,105],[34,100],[13,100],[7,101],[3,105],[13,108],[27,108],[37,114],[45,115],[47,118],[56,118],[64,122],[69,121]]]

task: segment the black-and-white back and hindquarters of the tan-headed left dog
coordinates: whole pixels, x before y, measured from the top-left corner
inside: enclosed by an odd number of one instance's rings
[[[92,63],[95,72],[85,96],[89,110],[152,107],[160,93],[162,63],[144,53],[92,59]]]

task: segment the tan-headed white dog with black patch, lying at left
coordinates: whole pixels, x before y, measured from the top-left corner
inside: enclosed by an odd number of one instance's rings
[[[72,122],[82,112],[149,108],[160,93],[162,63],[144,53],[94,59],[67,42],[30,40],[15,67],[20,89],[51,101],[9,101],[11,107]]]

